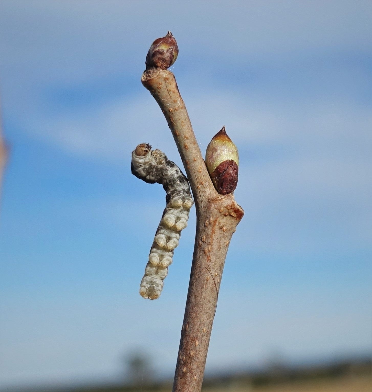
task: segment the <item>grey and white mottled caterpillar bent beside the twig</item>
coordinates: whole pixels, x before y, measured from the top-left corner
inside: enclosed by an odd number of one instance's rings
[[[162,184],[167,193],[166,208],[156,230],[140,285],[142,297],[157,299],[172,262],[173,249],[178,246],[181,230],[187,226],[194,202],[189,183],[181,169],[169,161],[164,152],[151,150],[150,144],[139,144],[132,152],[131,171],[140,180]]]

